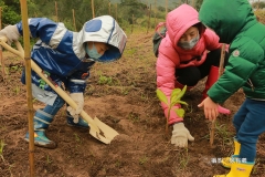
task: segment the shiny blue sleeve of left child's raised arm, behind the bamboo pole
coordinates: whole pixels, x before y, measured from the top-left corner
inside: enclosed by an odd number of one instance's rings
[[[29,19],[29,29],[31,38],[40,38],[42,42],[49,44],[54,31],[56,30],[59,23],[47,19],[47,18],[32,18]],[[17,23],[19,33],[23,35],[22,21]],[[60,40],[60,39],[59,39]]]

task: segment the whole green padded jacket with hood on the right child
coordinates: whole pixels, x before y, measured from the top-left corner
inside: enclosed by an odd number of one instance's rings
[[[248,1],[204,0],[199,19],[230,44],[225,71],[208,91],[212,101],[223,103],[241,87],[246,97],[265,101],[265,25]]]

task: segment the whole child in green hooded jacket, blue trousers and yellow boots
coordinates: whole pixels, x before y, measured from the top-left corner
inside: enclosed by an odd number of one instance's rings
[[[204,0],[199,19],[219,35],[220,42],[230,44],[231,54],[223,75],[199,107],[212,121],[219,115],[219,103],[241,87],[245,93],[233,117],[234,155],[222,160],[231,170],[219,177],[248,177],[258,136],[265,131],[265,25],[256,20],[247,0]]]

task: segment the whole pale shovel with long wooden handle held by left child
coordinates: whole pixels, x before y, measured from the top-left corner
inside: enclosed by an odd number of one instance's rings
[[[7,38],[0,38],[0,45],[2,45],[8,51],[17,54],[21,59],[24,59],[24,50],[21,46],[19,41],[14,41],[14,44],[18,50],[11,48],[7,44]],[[54,84],[52,80],[44,74],[42,69],[40,69],[36,63],[31,60],[31,67],[32,70],[41,77],[71,107],[76,108],[77,104],[68,96],[67,93],[65,93],[60,86]],[[89,125],[89,134],[95,137],[96,139],[109,144],[115,136],[119,135],[115,129],[109,127],[108,125],[100,122],[97,117],[92,118],[88,114],[86,114],[84,111],[81,112],[82,118],[84,118],[88,125]]]

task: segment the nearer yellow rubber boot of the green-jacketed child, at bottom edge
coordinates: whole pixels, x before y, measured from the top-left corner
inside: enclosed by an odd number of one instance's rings
[[[239,158],[237,158],[239,160]],[[250,177],[254,163],[242,164],[236,162],[232,163],[230,173],[227,175],[215,175],[213,177]]]

